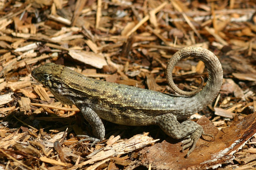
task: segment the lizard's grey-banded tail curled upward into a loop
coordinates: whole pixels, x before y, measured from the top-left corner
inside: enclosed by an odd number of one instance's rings
[[[198,58],[204,62],[209,77],[207,84],[201,90],[202,83],[198,89],[192,92],[185,92],[179,89],[173,81],[172,71],[174,69],[175,64],[181,60],[188,57]],[[209,50],[191,46],[185,47],[180,51],[177,51],[173,57],[169,60],[167,68],[167,81],[171,88],[179,94],[189,95],[189,97],[184,97],[183,102],[188,103],[188,107],[185,107],[183,111],[185,112],[197,112],[207,106],[210,102],[212,102],[217,94],[219,93],[220,87],[222,85],[223,80],[223,72],[222,67],[219,62],[219,59]],[[201,90],[201,91],[200,91]],[[191,96],[192,95],[192,96]],[[181,103],[182,104],[182,103]]]

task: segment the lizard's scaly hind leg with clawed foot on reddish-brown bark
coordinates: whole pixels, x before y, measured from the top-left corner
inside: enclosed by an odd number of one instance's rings
[[[190,120],[180,123],[172,113],[156,116],[155,124],[161,127],[165,134],[174,139],[186,138],[183,140],[182,151],[190,147],[187,157],[194,150],[200,136],[206,135],[201,125]]]

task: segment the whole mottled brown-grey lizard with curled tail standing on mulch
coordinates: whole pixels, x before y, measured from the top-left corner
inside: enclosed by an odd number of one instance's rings
[[[206,86],[197,94],[177,97],[128,85],[120,85],[96,80],[54,63],[35,68],[32,76],[48,88],[57,100],[75,104],[90,123],[94,137],[89,140],[101,141],[105,128],[101,119],[130,126],[158,125],[175,139],[184,140],[183,149],[194,149],[203,129],[197,123],[186,119],[210,104],[222,84],[222,68],[219,59],[210,51],[200,47],[186,47],[177,51],[168,62],[166,75],[169,85],[177,93],[187,93],[178,89],[172,79],[174,65],[187,57],[201,59],[208,69]],[[191,94],[191,93],[190,93]]]

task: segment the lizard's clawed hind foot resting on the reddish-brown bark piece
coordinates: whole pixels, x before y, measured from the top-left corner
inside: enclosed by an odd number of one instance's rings
[[[182,152],[188,148],[191,147],[187,153],[187,158],[189,157],[189,154],[192,153],[192,151],[195,149],[196,147],[196,142],[198,141],[198,139],[200,138],[200,136],[204,134],[203,133],[203,128],[201,126],[199,126],[192,134],[191,136],[189,136],[188,139],[185,139],[182,141]]]

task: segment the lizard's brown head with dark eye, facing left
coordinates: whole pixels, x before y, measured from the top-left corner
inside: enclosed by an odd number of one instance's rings
[[[46,88],[56,86],[55,82],[61,82],[61,72],[63,66],[54,63],[47,63],[41,67],[35,68],[31,71],[31,75]]]

